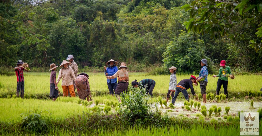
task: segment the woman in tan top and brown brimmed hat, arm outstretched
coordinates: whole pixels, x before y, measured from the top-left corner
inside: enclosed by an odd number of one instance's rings
[[[119,102],[120,100],[120,93],[121,92],[127,92],[128,90],[128,81],[129,81],[129,76],[128,76],[128,71],[127,71],[127,66],[124,62],[121,63],[119,66],[119,69],[113,76],[106,76],[107,79],[114,79],[118,78],[118,84],[115,90],[116,97],[118,98]]]

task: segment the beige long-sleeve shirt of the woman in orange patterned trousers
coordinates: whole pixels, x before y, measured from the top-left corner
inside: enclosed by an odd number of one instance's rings
[[[63,77],[63,78],[62,78]],[[62,85],[69,86],[73,84],[73,80],[75,80],[75,74],[73,72],[73,69],[71,67],[62,68],[59,70],[59,75],[57,78],[57,83],[62,78]]]

